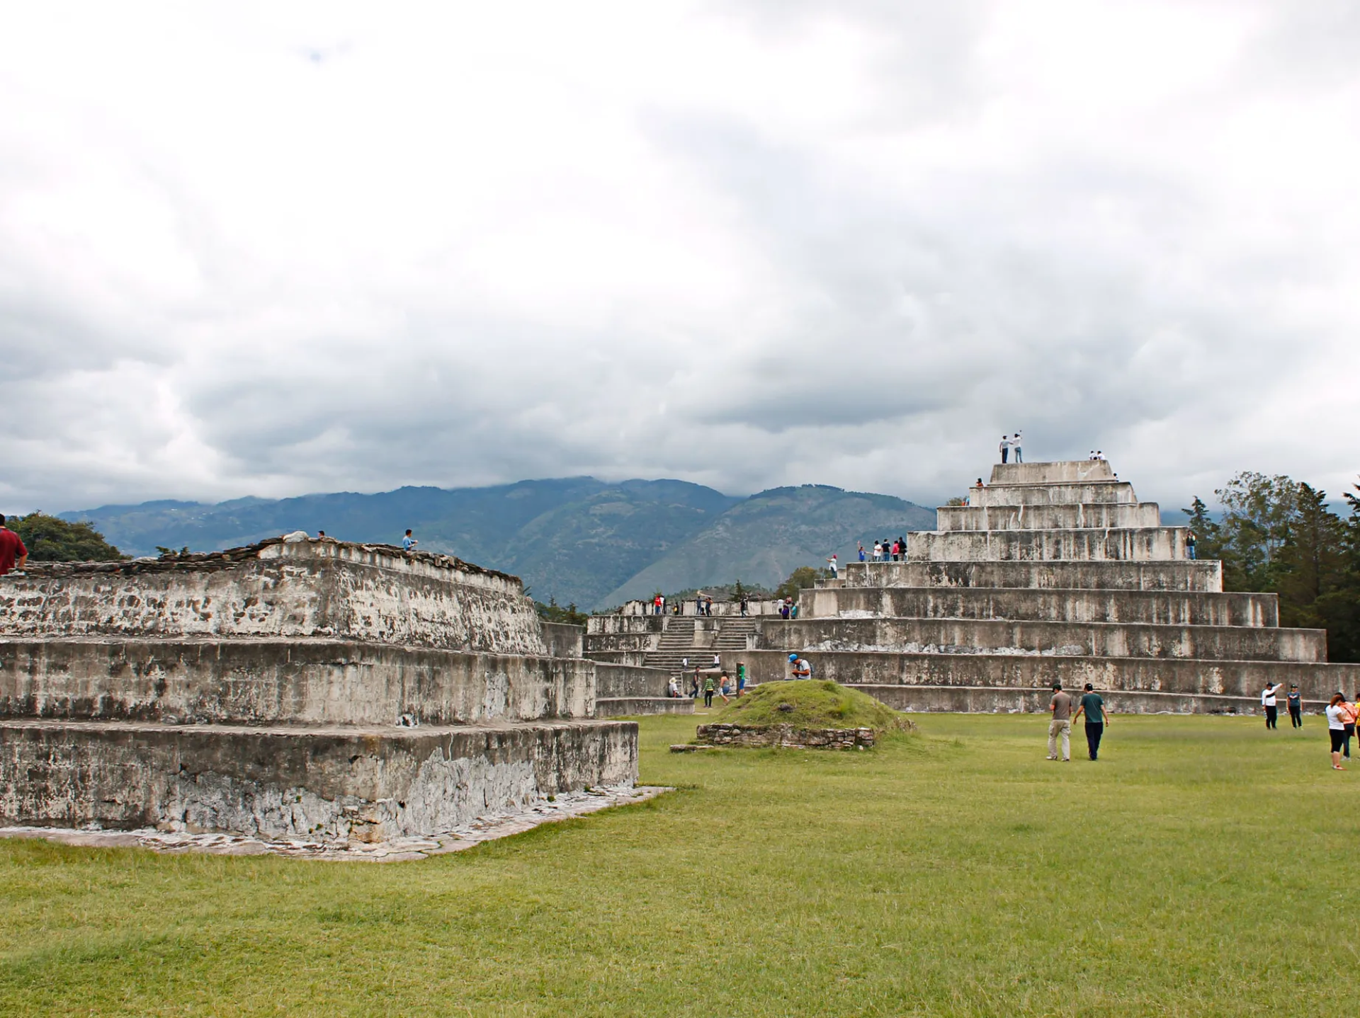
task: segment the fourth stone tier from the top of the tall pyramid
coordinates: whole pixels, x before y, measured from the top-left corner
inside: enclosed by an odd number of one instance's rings
[[[1186,559],[1185,527],[1092,530],[918,530],[911,561],[1175,561]]]

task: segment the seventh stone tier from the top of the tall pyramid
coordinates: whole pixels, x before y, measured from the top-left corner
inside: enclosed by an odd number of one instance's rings
[[[1031,652],[1095,658],[1326,662],[1325,629],[971,618],[800,618],[764,628],[760,650]]]

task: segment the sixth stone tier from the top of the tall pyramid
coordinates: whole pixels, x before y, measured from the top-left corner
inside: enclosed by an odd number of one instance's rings
[[[1009,618],[1040,622],[1278,625],[1274,594],[1163,590],[850,587],[805,590],[801,618],[842,613],[892,618]]]

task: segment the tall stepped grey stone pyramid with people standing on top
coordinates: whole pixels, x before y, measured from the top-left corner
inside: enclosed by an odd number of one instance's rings
[[[785,678],[798,651],[908,711],[1044,711],[1054,681],[1121,712],[1259,711],[1268,681],[1319,709],[1360,688],[1325,631],[1280,628],[1273,594],[1225,594],[1221,563],[1190,560],[1189,531],[1104,459],[998,465],[937,525],[904,561],[850,563],[800,618],[762,621],[752,677]]]

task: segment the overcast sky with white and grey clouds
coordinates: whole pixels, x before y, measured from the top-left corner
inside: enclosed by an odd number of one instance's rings
[[[1360,473],[1349,3],[7,4],[0,510]],[[1182,503],[1183,504],[1183,503]]]

